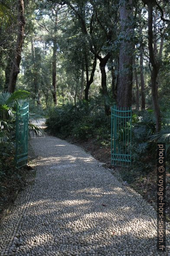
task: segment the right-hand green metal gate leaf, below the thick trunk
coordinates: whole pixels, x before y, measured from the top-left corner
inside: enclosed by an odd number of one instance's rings
[[[131,165],[131,108],[111,108],[111,165]]]

